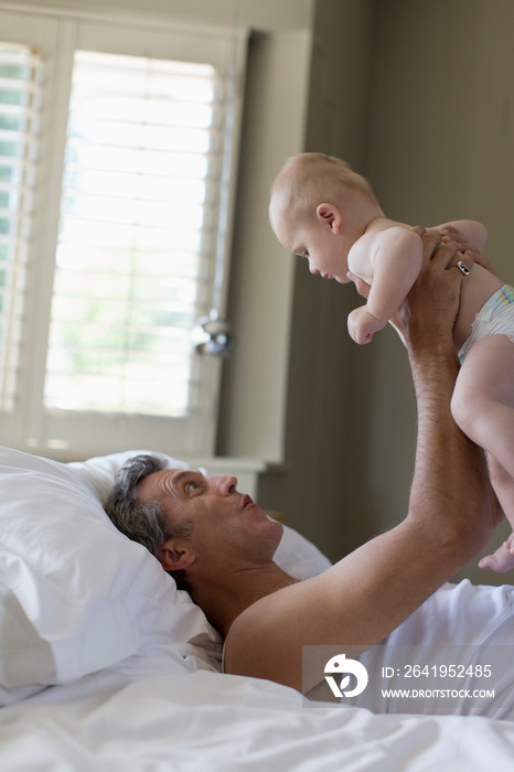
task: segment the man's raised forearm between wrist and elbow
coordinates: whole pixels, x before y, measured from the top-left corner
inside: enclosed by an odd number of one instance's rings
[[[459,371],[452,337],[442,329],[428,330],[413,321],[407,346],[418,412],[409,517],[430,535],[437,529],[442,544],[448,540],[448,560],[451,564],[454,556],[458,570],[491,538],[492,493],[485,457],[451,415]]]

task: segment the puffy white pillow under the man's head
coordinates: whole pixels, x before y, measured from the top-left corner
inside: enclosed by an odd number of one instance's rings
[[[116,471],[140,452],[64,464],[0,448],[0,705],[119,663],[156,635],[176,642],[182,660],[219,645],[190,597],[103,510]],[[277,562],[299,578],[330,565],[290,528]]]

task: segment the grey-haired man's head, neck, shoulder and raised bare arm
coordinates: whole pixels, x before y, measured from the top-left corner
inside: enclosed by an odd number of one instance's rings
[[[395,320],[418,410],[415,474],[401,523],[324,573],[297,581],[274,562],[281,526],[237,492],[235,478],[139,462],[131,491],[115,483],[109,516],[186,580],[225,637],[227,673],[308,691],[313,684],[302,687],[302,645],[374,646],[491,538],[499,513],[483,452],[450,411],[459,368],[452,328],[465,281],[453,264],[470,267],[473,258],[440,244],[436,233],[424,233],[422,240],[419,279]]]

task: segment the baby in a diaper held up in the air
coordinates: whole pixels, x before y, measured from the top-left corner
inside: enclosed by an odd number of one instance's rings
[[[422,245],[410,225],[388,219],[367,181],[344,161],[301,153],[281,169],[269,216],[279,242],[309,261],[311,274],[341,283],[357,277],[370,296],[349,315],[356,343],[368,343],[401,305],[421,267]],[[485,227],[459,219],[435,226],[459,230],[479,250]],[[514,527],[514,288],[474,264],[464,274],[453,328],[461,368],[451,403],[462,431],[486,452],[491,480]],[[481,568],[514,567],[514,534]]]

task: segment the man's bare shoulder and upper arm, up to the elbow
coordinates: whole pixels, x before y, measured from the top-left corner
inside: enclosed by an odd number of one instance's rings
[[[302,646],[379,643],[441,585],[441,566],[458,561],[460,528],[443,532],[407,517],[323,573],[260,598],[228,631],[225,671],[301,690]],[[405,560],[409,550],[416,560]]]

